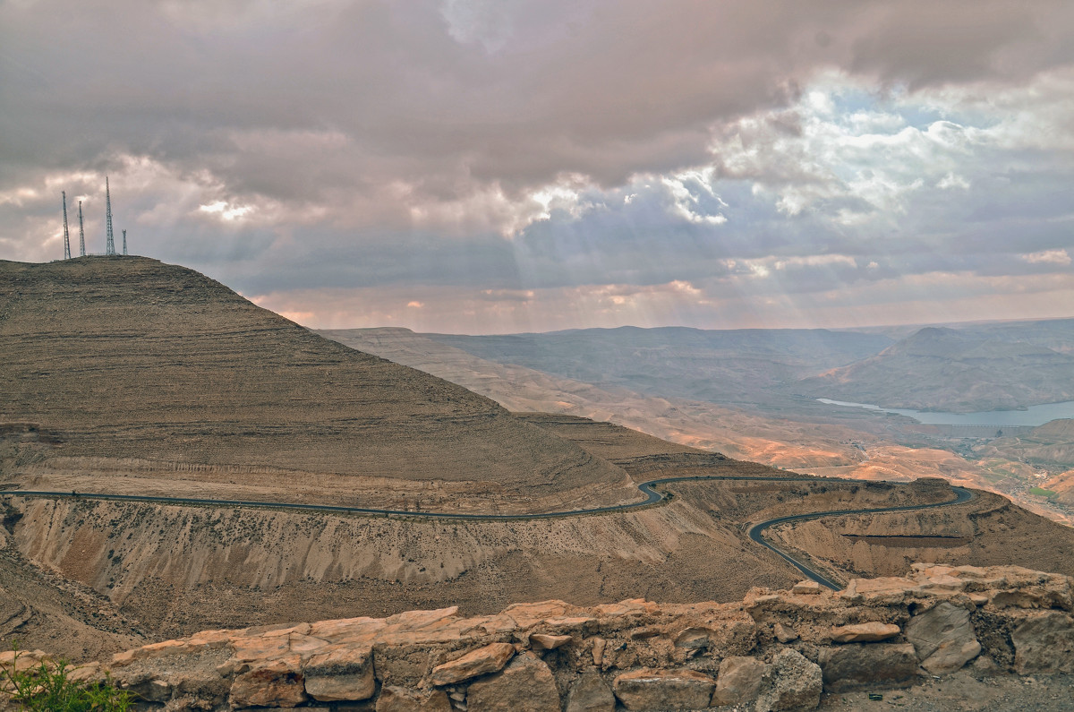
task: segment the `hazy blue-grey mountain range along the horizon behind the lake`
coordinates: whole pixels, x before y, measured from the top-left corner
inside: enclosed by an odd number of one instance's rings
[[[422,334],[504,365],[662,398],[767,410],[801,397],[973,412],[1074,400],[1074,319],[879,331],[666,327]]]

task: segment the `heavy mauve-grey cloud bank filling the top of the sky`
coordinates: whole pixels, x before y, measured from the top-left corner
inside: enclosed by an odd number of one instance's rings
[[[401,177],[452,196],[460,172],[619,184],[695,162],[712,123],[785,103],[817,66],[1017,81],[1071,52],[1066,2],[517,2],[494,52],[432,2],[265,8],[6,3],[5,180],[127,152],[280,200]]]

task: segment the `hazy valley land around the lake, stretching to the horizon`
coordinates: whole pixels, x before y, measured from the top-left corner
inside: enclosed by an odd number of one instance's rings
[[[1074,522],[1063,478],[1074,468],[1063,425],[1069,419],[1007,427],[1007,435],[997,438],[1003,435],[1002,412],[992,421],[982,416],[981,427],[921,426],[910,417],[817,400],[843,396],[929,411],[1026,409],[1069,400],[1064,384],[1074,379],[1068,355],[1074,352],[1074,319],[891,331],[321,333],[435,373],[509,410],[608,419],[802,472],[943,476]],[[971,382],[974,386],[966,387]],[[1074,416],[1074,408],[1068,411]],[[1053,479],[1058,489],[1049,488]]]

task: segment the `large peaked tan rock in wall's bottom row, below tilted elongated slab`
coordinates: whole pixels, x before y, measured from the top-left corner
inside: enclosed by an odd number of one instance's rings
[[[503,672],[473,683],[466,706],[469,712],[558,712],[560,690],[545,661],[522,653]]]

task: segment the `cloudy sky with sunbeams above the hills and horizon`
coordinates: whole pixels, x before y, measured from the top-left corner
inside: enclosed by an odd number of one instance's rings
[[[0,259],[314,328],[1074,316],[1070,0],[0,0]]]

